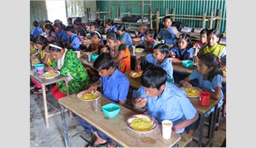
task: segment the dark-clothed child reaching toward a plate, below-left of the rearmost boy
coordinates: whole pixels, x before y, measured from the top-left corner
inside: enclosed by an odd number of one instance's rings
[[[155,31],[153,29],[146,30],[144,36],[145,40],[134,46],[144,46],[146,52],[153,52],[154,47],[157,45],[157,41],[154,40]]]

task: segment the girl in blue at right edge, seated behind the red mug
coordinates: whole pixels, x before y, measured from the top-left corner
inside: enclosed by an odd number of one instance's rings
[[[222,93],[222,72],[221,61],[215,54],[204,54],[199,58],[197,69],[190,74],[190,76],[180,81],[180,85],[185,88],[190,88],[192,85],[189,83],[191,80],[197,79],[199,82],[198,88],[210,93],[210,96],[214,99],[221,99],[218,107],[222,105],[222,99],[224,97]],[[212,113],[212,110],[208,111],[208,114]]]

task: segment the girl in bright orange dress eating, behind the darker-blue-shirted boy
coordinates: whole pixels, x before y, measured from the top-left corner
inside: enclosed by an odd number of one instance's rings
[[[107,34],[107,46],[110,51],[105,47],[101,49],[101,52],[110,52],[110,55],[115,59],[118,70],[124,73],[130,71],[130,51],[124,41],[119,41],[119,38],[119,33],[109,32]]]

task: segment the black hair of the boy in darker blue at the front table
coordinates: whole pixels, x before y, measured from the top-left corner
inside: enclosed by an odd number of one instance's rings
[[[109,69],[110,67],[115,68],[115,59],[108,53],[102,53],[93,63],[93,67],[96,69]]]

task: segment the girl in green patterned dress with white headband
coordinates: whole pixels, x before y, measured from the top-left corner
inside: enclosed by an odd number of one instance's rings
[[[65,48],[62,41],[53,41],[49,44],[49,51],[55,59],[48,72],[60,71],[62,76],[68,76],[69,94],[84,90],[89,84],[89,77],[84,65],[77,58],[73,50]],[[57,82],[51,90],[55,99],[66,96],[66,86],[64,81]]]

